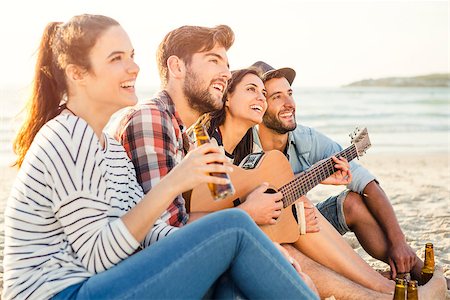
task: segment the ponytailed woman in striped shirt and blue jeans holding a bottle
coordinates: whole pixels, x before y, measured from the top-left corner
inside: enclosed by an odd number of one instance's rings
[[[161,220],[178,194],[224,184],[207,173],[230,170],[207,144],[143,193],[123,146],[103,132],[114,112],[136,104],[138,72],[115,20],[81,15],[47,25],[15,142],[2,298],[200,299],[226,273],[248,298],[317,299],[299,265],[242,211],[180,229]]]

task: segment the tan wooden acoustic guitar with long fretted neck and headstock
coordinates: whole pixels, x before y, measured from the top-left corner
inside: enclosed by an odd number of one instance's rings
[[[345,157],[349,162],[364,155],[370,147],[366,128],[358,128],[350,134],[352,145],[336,153],[336,157]],[[213,212],[241,204],[246,196],[262,182],[269,183],[266,192],[283,194],[283,209],[275,225],[261,225],[260,228],[269,238],[278,243],[293,243],[299,238],[299,225],[295,202],[313,187],[328,178],[337,170],[331,157],[318,161],[309,169],[294,175],[289,161],[278,150],[249,154],[240,166],[233,166],[230,173],[235,193],[221,200],[213,200],[207,184],[201,184],[192,190],[190,197],[191,212]]]

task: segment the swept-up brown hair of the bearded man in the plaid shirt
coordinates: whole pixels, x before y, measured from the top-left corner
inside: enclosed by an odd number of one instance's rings
[[[167,59],[175,55],[190,64],[192,55],[209,51],[216,45],[228,50],[234,43],[234,33],[227,25],[213,28],[202,26],[182,26],[169,32],[159,44],[156,54],[161,85],[169,80]]]

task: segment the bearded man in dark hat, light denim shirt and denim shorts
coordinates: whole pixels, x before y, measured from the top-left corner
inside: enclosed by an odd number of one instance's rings
[[[262,72],[267,90],[267,111],[254,131],[262,149],[282,151],[295,174],[342,150],[315,129],[297,124],[293,69],[275,69],[263,61],[252,67]],[[350,166],[353,180],[347,189],[316,207],[341,235],[353,231],[367,253],[389,264],[392,278],[404,272],[419,278],[423,262],[406,243],[388,197],[368,170],[354,161]]]

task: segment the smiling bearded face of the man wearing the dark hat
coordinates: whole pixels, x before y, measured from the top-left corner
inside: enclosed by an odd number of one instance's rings
[[[267,111],[263,124],[279,134],[285,134],[297,127],[295,102],[292,88],[286,78],[272,78],[265,82],[267,90]]]

